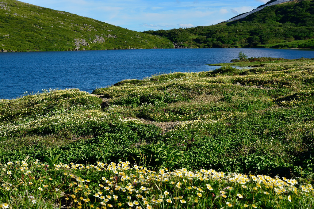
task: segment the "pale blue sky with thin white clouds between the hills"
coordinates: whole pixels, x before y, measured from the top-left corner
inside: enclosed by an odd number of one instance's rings
[[[268,0],[25,0],[123,28],[144,31],[206,26],[228,20]]]

